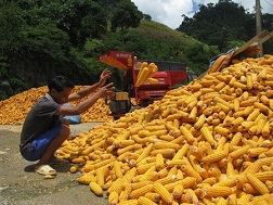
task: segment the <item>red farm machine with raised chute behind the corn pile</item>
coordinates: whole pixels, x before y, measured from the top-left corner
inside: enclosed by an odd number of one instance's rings
[[[173,86],[187,80],[186,65],[179,62],[159,62],[151,60],[138,60],[133,52],[108,51],[100,56],[98,61],[118,69],[125,71],[125,82],[127,90],[116,92],[110,99],[109,107],[114,117],[130,112],[132,103],[130,98],[136,101],[136,107],[144,107],[156,100],[162,99],[167,91]],[[135,87],[136,77],[143,62],[155,63],[158,72],[153,76],[158,80],[157,85],[144,82]]]

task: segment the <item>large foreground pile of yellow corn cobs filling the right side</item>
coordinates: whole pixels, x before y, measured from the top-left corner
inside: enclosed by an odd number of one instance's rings
[[[246,59],[64,142],[114,204],[273,204],[273,55]],[[75,172],[75,171],[74,171]]]

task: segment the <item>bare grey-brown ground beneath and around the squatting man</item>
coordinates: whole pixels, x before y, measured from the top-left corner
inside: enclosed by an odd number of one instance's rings
[[[100,123],[72,125],[72,136],[89,131]],[[54,167],[57,176],[43,179],[34,171],[35,162],[25,161],[18,151],[21,125],[0,125],[0,205],[106,205],[106,196],[99,197],[88,185],[70,174],[72,165]]]

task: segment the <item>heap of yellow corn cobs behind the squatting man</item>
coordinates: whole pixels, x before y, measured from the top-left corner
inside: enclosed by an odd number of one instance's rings
[[[76,86],[73,92],[83,87],[84,86]],[[6,100],[0,101],[0,125],[23,124],[27,113],[36,101],[47,92],[48,87],[46,86],[31,88]],[[75,105],[76,103],[78,102],[73,102],[72,104]],[[91,108],[81,114],[81,123],[113,120],[109,114],[110,111],[108,105],[104,103],[103,99],[100,99]]]

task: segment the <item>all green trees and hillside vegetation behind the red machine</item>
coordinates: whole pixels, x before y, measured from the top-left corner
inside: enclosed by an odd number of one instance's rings
[[[0,100],[47,85],[55,75],[94,84],[109,50],[138,59],[185,63],[197,74],[219,53],[256,36],[256,17],[230,0],[200,5],[177,29],[156,23],[130,0],[0,0]],[[273,15],[262,14],[273,30]],[[273,53],[273,42],[264,43]],[[122,72],[112,68],[117,88]]]

